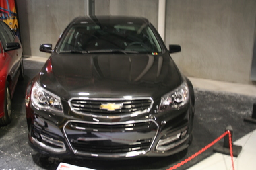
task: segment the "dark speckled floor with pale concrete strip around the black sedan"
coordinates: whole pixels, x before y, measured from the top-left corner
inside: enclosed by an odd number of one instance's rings
[[[43,62],[38,62],[39,59]],[[45,60],[46,58],[34,57],[24,60],[25,79],[18,82],[18,88],[15,91],[13,121],[7,126],[0,126],[0,169],[57,169],[60,162],[97,170],[169,169],[218,138],[228,125],[234,129],[233,141],[256,129],[256,124],[243,121],[243,118],[251,116],[253,103],[256,101],[256,88],[253,85],[238,85],[190,77],[195,87],[196,103],[194,138],[187,150],[170,157],[149,157],[123,161],[48,158],[36,153],[28,146],[24,107],[26,85],[38,73]],[[212,148],[178,169],[192,168],[193,165],[211,155],[214,155]]]

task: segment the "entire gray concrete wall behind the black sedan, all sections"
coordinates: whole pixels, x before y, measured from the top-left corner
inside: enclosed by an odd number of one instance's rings
[[[84,15],[84,0],[19,0],[18,13],[24,54],[39,52],[41,43],[55,44],[65,26]],[[157,28],[158,0],[95,0],[96,15],[148,18]],[[251,83],[255,0],[166,0],[168,44],[180,44],[172,54],[188,76]]]

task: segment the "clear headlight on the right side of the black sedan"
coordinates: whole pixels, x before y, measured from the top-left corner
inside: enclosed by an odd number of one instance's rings
[[[179,109],[189,101],[189,87],[187,83],[183,82],[174,91],[162,96],[159,105],[159,112],[170,109]]]

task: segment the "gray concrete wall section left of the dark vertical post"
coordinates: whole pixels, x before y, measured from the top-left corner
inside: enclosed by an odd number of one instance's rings
[[[55,46],[61,32],[77,16],[84,15],[82,0],[18,0],[20,34],[25,56],[44,56],[42,43]]]

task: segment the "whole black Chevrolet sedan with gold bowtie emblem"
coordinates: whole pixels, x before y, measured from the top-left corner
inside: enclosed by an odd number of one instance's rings
[[[77,17],[28,83],[32,148],[55,157],[168,156],[192,140],[194,91],[145,18]]]

